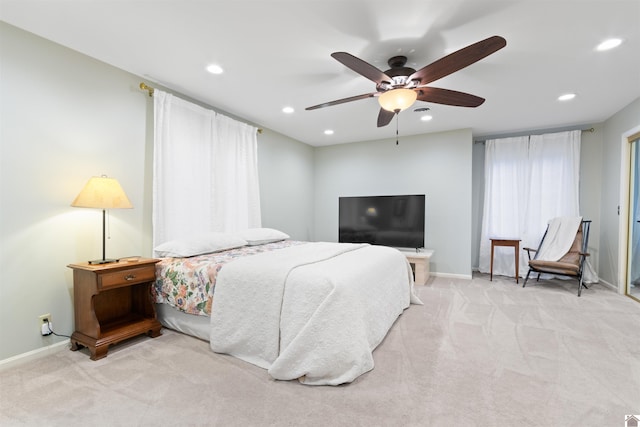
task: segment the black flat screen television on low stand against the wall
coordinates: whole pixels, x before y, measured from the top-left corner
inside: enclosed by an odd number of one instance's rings
[[[338,199],[338,241],[424,247],[424,194]]]

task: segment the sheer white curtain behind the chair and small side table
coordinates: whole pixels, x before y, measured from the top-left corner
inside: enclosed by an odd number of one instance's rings
[[[521,239],[520,275],[527,272],[523,247],[537,248],[551,218],[579,216],[581,131],[488,140],[479,270],[490,271],[491,238]],[[513,276],[513,248],[497,247],[493,273]]]

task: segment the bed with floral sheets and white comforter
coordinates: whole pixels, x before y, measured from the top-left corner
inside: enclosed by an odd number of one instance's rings
[[[301,242],[253,229],[212,251],[205,241],[221,236],[186,245],[195,251],[156,248],[158,318],[274,379],[352,382],[373,369],[373,350],[398,316],[421,304],[411,267],[396,249]]]

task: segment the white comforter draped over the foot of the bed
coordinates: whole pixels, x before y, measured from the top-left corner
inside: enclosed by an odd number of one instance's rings
[[[411,267],[382,246],[308,243],[220,270],[211,349],[279,380],[337,385],[373,369],[372,352],[420,300]]]

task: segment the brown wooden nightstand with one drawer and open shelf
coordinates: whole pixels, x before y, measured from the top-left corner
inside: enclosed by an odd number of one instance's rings
[[[156,319],[150,286],[159,260],[90,265],[73,269],[75,332],[71,350],[89,348],[91,359],[107,355],[109,345],[140,334],[157,337],[162,325]]]

